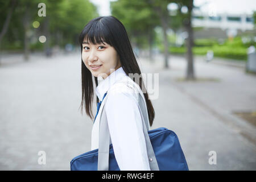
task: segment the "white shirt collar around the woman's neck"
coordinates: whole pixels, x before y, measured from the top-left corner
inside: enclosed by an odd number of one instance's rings
[[[100,77],[98,77],[98,86],[96,87],[96,94],[100,101],[102,101],[102,98],[104,97],[104,94],[109,90],[109,88],[118,80],[120,80],[122,77],[126,76],[125,71],[123,71],[123,68],[120,67],[116,69],[114,72],[112,72],[108,77],[106,77],[104,80],[100,81]]]

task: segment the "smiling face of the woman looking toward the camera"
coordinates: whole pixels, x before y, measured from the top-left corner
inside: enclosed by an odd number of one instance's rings
[[[86,39],[82,43],[82,61],[94,77],[101,76],[104,79],[110,75],[110,69],[112,69],[112,73],[121,67],[119,56],[114,47],[105,42],[104,44],[93,45],[86,42]],[[96,68],[93,68],[94,66]]]

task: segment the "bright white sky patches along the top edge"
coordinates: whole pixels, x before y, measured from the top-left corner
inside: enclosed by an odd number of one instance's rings
[[[90,0],[90,2],[98,7],[101,16],[111,15],[109,7],[110,1],[115,0]],[[201,7],[201,11],[205,13],[215,11],[217,14],[251,14],[253,10],[256,11],[255,0],[194,0],[194,5],[196,6],[203,4],[204,6]]]

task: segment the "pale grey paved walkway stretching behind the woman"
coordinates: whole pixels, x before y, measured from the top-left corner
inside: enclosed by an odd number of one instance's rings
[[[0,67],[1,170],[69,170],[73,157],[90,150],[92,121],[79,110],[80,57],[32,56],[28,63]],[[256,110],[256,77],[199,57],[196,76],[219,81],[179,82],[183,57],[170,57],[170,69],[162,69],[163,57],[154,60],[139,60],[142,73],[159,73],[152,129],[175,131],[191,170],[255,170],[255,127],[232,112]],[[39,151],[46,152],[44,165],[38,164]],[[208,163],[210,151],[217,164]]]

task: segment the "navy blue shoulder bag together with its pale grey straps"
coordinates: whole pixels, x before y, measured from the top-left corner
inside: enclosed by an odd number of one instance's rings
[[[188,165],[174,131],[160,127],[148,130],[146,101],[140,92],[139,111],[142,116],[143,133],[146,140],[148,160],[151,171],[188,171]],[[105,98],[106,99],[106,98]],[[144,101],[144,104],[143,104]],[[71,160],[71,171],[119,171],[113,146],[110,143],[108,122],[103,104],[100,115],[100,136],[98,149],[85,152]],[[147,122],[145,119],[147,119]],[[147,123],[147,125],[146,125]]]

